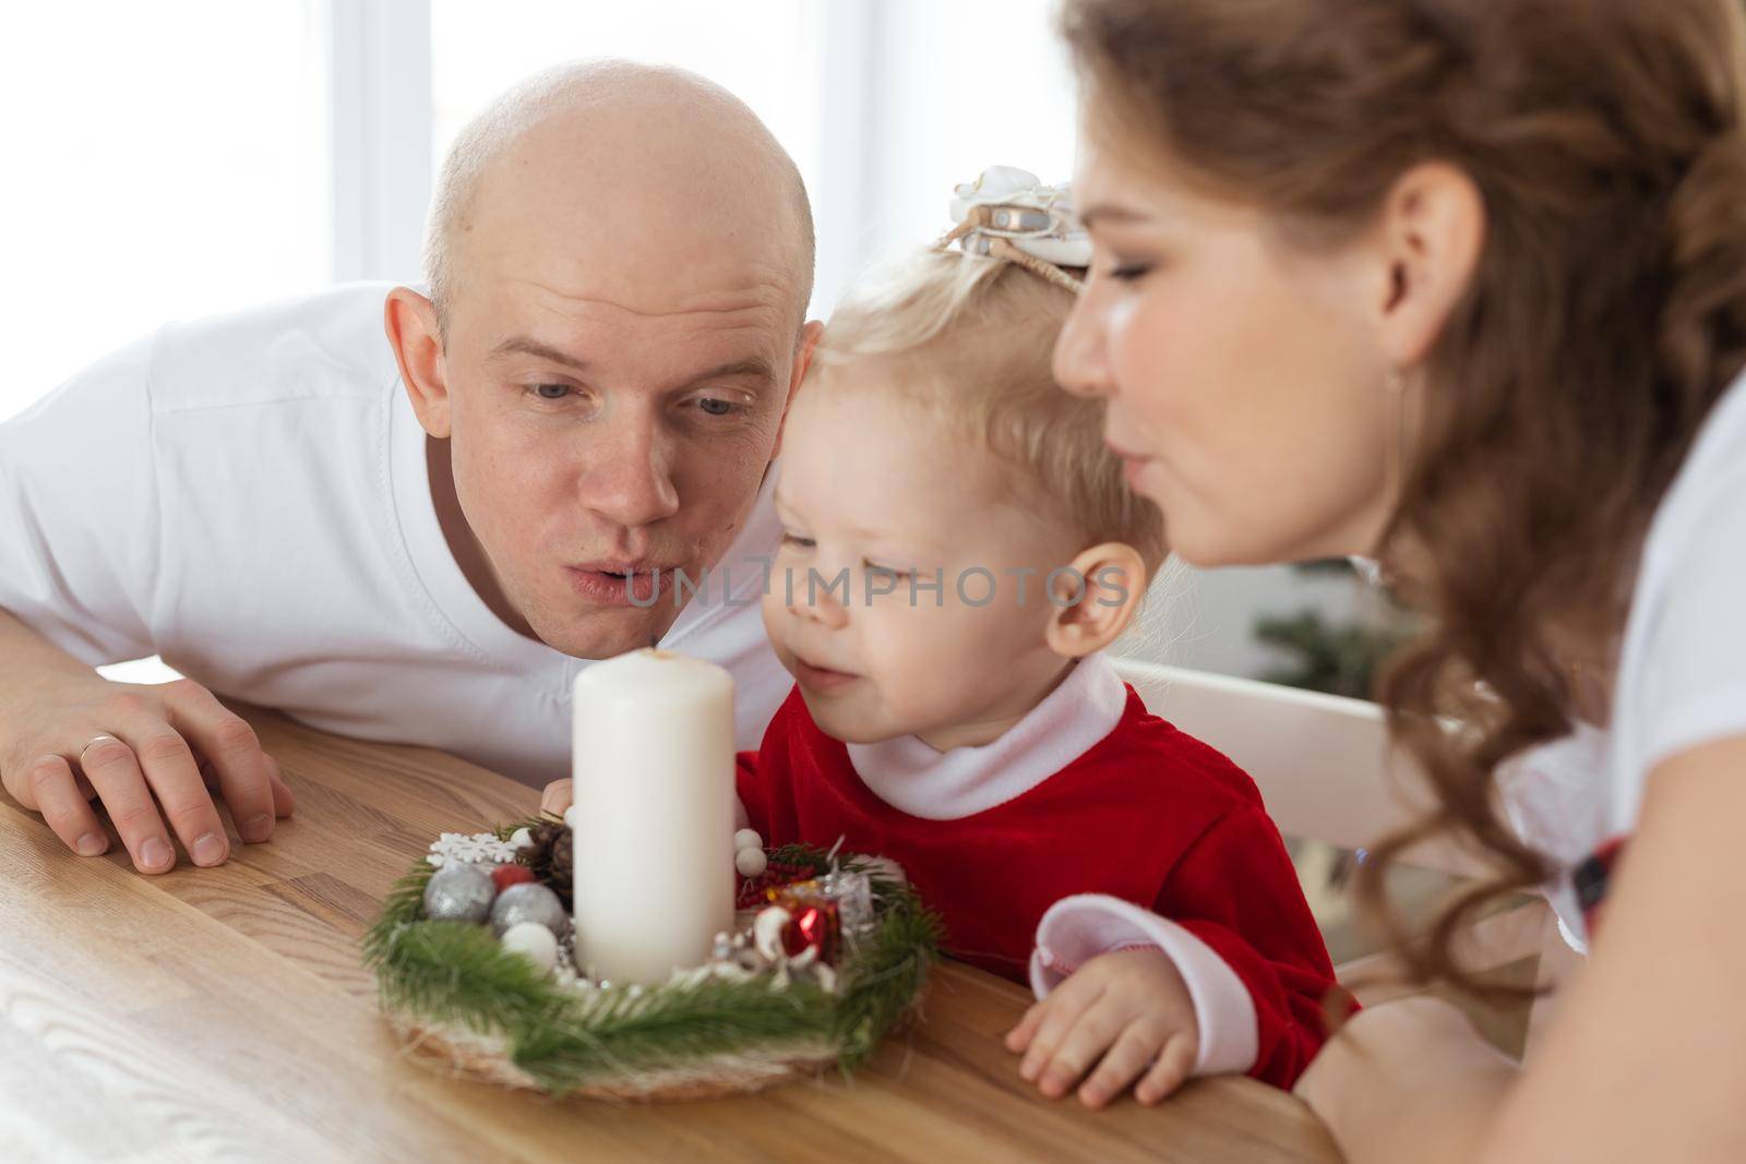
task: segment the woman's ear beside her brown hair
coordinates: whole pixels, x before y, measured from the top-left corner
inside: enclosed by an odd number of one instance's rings
[[[1486,201],[1467,171],[1421,162],[1383,201],[1383,349],[1390,366],[1425,359],[1472,286],[1486,241]]]

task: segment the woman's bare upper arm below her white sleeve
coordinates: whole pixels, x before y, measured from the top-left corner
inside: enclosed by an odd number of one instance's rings
[[[1650,775],[1589,965],[1484,1157],[1746,1159],[1746,736]]]

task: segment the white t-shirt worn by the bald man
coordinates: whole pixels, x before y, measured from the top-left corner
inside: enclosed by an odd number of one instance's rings
[[[388,290],[168,325],[0,424],[0,607],[94,667],[161,654],[316,728],[541,785],[569,775],[588,661],[510,630],[461,574],[382,337]],[[660,642],[733,674],[742,749],[793,682],[758,611],[773,480],[728,585]]]

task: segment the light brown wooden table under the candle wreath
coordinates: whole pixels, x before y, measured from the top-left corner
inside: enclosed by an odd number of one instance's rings
[[[1247,1078],[1161,1108],[1042,1099],[1000,1045],[1027,993],[957,963],[850,1082],[611,1106],[431,1073],[381,1021],[356,939],[438,832],[538,794],[239,710],[297,815],[223,867],[75,857],[0,792],[0,1161],[1337,1161],[1297,1099]]]

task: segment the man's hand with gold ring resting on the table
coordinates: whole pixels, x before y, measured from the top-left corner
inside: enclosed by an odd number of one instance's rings
[[[82,857],[108,850],[93,801],[108,810],[140,873],[175,867],[169,829],[194,864],[229,859],[215,794],[244,841],[265,841],[274,820],[292,815],[292,791],[255,729],[189,679],[52,675],[5,707],[0,733],[5,791]]]

